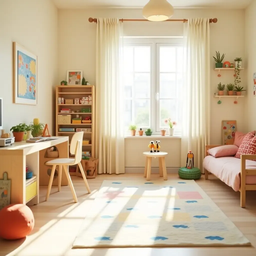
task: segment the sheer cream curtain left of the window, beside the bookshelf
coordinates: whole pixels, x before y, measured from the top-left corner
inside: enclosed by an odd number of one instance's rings
[[[117,18],[97,19],[95,150],[99,158],[98,173],[124,173],[122,28]]]

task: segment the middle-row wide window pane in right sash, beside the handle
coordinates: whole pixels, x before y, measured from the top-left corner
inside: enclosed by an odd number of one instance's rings
[[[176,74],[160,73],[160,98],[176,98]]]

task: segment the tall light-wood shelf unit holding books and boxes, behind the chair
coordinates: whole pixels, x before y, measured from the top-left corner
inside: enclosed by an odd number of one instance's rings
[[[74,99],[74,98],[82,98],[87,97],[88,95],[92,95],[92,104],[58,104],[58,98],[64,99]],[[90,113],[61,113],[60,110],[62,108],[68,108],[74,111],[80,110],[81,108],[86,108],[88,106],[91,108]],[[71,115],[71,122],[72,118],[75,115],[79,114],[79,116],[85,117],[89,115],[91,117],[92,122],[90,124],[58,124],[58,115]],[[77,126],[77,127],[76,127]],[[56,86],[56,136],[69,136],[69,143],[70,140],[75,132],[59,132],[59,128],[91,128],[91,132],[84,132],[83,138],[90,140],[89,145],[82,145],[83,151],[91,151],[91,157],[95,158],[95,87],[93,85],[86,85],[86,86]],[[66,135],[67,134],[67,135]],[[88,147],[89,146],[89,147]],[[74,175],[74,174],[73,174]]]

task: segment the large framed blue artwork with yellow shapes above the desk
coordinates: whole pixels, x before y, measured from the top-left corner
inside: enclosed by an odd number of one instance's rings
[[[13,102],[37,105],[37,56],[13,42]]]

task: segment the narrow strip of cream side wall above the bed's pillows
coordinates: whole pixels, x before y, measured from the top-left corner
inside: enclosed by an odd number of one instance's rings
[[[253,73],[256,72],[256,1],[246,9],[246,52],[247,52],[247,80],[248,80],[248,128],[249,131],[256,129],[255,109],[256,109],[256,96],[253,96]]]

